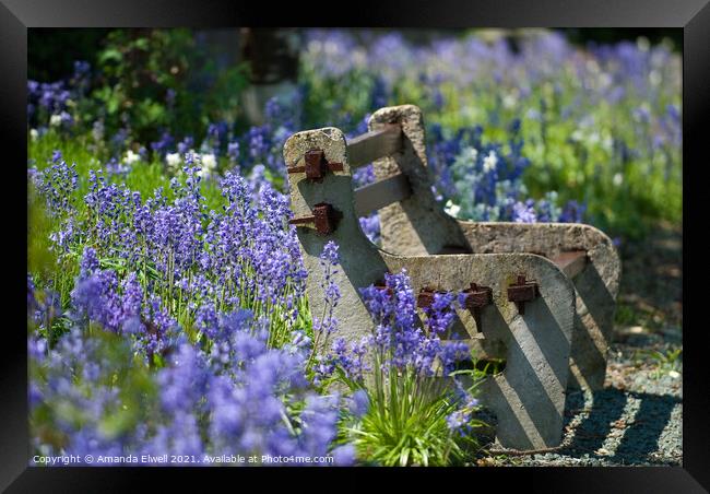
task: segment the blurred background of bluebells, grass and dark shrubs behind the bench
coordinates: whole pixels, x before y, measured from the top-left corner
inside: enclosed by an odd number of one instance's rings
[[[203,148],[218,141],[218,156],[229,132],[242,136],[235,157],[246,170],[280,161],[287,131],[362,131],[378,107],[414,103],[438,136],[440,152],[429,158],[437,187],[464,216],[489,214],[465,207],[466,189],[450,183],[449,168],[474,144],[499,153],[496,143],[521,139],[508,149],[531,164],[520,189],[531,201],[554,192],[611,235],[639,238],[659,220],[682,217],[682,30],[667,28],[33,28],[28,80],[68,81],[57,87],[73,92],[44,114],[35,105],[29,127],[43,131],[43,121],[62,115],[71,120],[64,137],[75,142],[57,137],[59,148],[79,143],[104,163],[127,148],[159,161],[185,139]],[[269,114],[274,96],[281,109]],[[39,167],[58,144],[47,127],[45,142],[33,143],[45,150],[33,156]],[[86,141],[90,131],[98,144]],[[280,185],[279,167],[265,164]]]

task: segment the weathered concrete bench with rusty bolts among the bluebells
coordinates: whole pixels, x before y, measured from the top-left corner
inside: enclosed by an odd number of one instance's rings
[[[603,386],[618,290],[619,260],[603,233],[563,223],[476,223],[436,202],[421,110],[382,108],[369,132],[350,142],[336,128],[298,132],[284,145],[309,305],[321,314],[319,256],[340,246],[335,274],[339,334],[372,329],[359,289],[406,269],[415,293],[466,291],[453,330],[482,360],[506,365],[486,379],[481,400],[497,416],[496,439],[516,449],[557,446],[569,385]],[[374,163],[377,183],[353,190],[352,172]],[[358,216],[379,211],[381,248]]]

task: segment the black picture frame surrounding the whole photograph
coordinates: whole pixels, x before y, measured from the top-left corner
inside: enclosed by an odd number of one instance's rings
[[[245,469],[177,469],[177,468],[39,468],[28,467],[29,440],[27,430],[27,356],[22,285],[26,283],[21,259],[26,259],[22,242],[23,219],[17,204],[23,203],[26,170],[26,67],[27,28],[31,27],[223,27],[223,26],[369,26],[369,27],[677,27],[683,30],[683,157],[684,222],[703,225],[699,173],[708,157],[702,129],[710,120],[710,0],[480,0],[468,3],[451,0],[436,2],[386,2],[330,5],[285,3],[269,5],[256,2],[233,3],[227,0],[0,0],[0,148],[7,181],[2,188],[4,223],[13,224],[17,233],[5,233],[3,274],[10,286],[3,304],[5,315],[16,316],[17,324],[2,330],[0,358],[0,486],[7,492],[131,492],[147,486],[145,480],[158,477],[161,482],[184,482],[186,474],[199,474],[215,480],[226,479],[233,487],[242,479]],[[11,177],[8,175],[12,175]],[[15,176],[16,175],[16,176]],[[3,180],[4,181],[4,180]],[[15,185],[16,184],[16,185]],[[9,193],[11,192],[11,193]],[[26,204],[26,202],[24,202]],[[26,208],[25,208],[26,213]],[[26,219],[26,216],[25,216]],[[696,228],[700,230],[700,228]],[[690,235],[690,236],[688,236]],[[708,366],[705,364],[703,332],[699,324],[702,301],[685,285],[702,281],[703,262],[699,258],[703,243],[691,240],[693,231],[685,232],[683,252],[696,259],[696,267],[684,277],[685,319],[693,331],[684,334],[684,437],[683,467],[678,468],[528,468],[447,470],[446,475],[461,474],[462,489],[476,489],[481,480],[493,480],[496,489],[509,483],[524,482],[533,492],[708,492],[710,489],[710,392]],[[701,234],[697,234],[701,235]],[[25,237],[26,238],[26,237]],[[17,251],[14,251],[14,248]],[[687,262],[686,262],[687,266]],[[697,307],[694,307],[694,301]],[[700,304],[700,305],[698,305]],[[5,316],[7,317],[7,316]],[[698,319],[696,321],[696,319]],[[8,319],[4,319],[8,320]],[[686,322],[687,326],[687,322]],[[330,469],[329,473],[343,473]],[[378,475],[398,477],[401,481],[418,482],[430,470],[394,469]],[[273,470],[252,469],[261,478],[285,479],[297,483],[301,469],[291,469],[284,475],[271,475]],[[368,469],[368,473],[371,470]],[[281,472],[279,472],[281,473]],[[351,474],[352,470],[344,473]],[[436,472],[435,472],[436,473]],[[440,473],[440,472],[439,472]],[[320,471],[319,475],[322,475]],[[206,484],[203,484],[206,486]],[[265,484],[263,484],[265,485]],[[317,489],[341,489],[340,483],[322,483]],[[511,484],[512,485],[512,484]],[[366,487],[363,482],[356,489]],[[242,485],[245,489],[246,484]],[[458,489],[447,484],[443,489]],[[165,489],[165,487],[153,487]],[[216,487],[214,487],[216,489]],[[288,489],[288,487],[287,487]],[[291,486],[293,489],[293,485]]]

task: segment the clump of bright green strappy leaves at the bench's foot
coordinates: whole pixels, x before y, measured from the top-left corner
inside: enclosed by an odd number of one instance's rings
[[[388,467],[454,466],[481,449],[475,430],[485,426],[484,422],[474,415],[463,433],[452,431],[447,419],[454,412],[473,414],[478,410],[477,404],[462,409],[451,379],[469,379],[468,392],[473,397],[484,373],[474,367],[453,372],[448,378],[425,378],[411,367],[382,373],[378,362],[376,357],[372,376],[365,384],[338,372],[340,383],[353,391],[364,389],[370,403],[363,417],[345,420],[341,432],[341,440],[353,444],[363,461]]]

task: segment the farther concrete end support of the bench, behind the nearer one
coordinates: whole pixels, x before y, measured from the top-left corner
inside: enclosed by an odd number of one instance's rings
[[[449,251],[476,254],[533,252],[547,258],[587,250],[588,262],[575,277],[577,317],[570,357],[570,386],[601,389],[613,331],[620,261],[611,239],[590,225],[568,223],[465,222],[449,216],[434,200],[421,110],[413,105],[381,108],[369,128],[402,125],[402,153],[374,163],[382,179],[406,174],[416,190],[409,199],[380,210],[382,249],[401,256]]]

